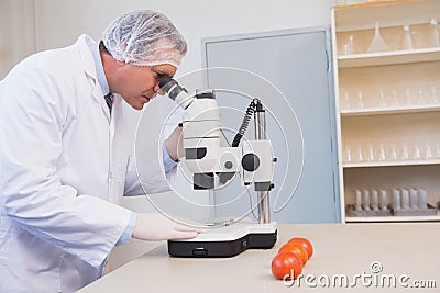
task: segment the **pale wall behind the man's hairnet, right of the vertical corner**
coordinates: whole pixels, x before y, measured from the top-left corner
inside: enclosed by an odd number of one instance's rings
[[[186,37],[189,52],[179,74],[200,69],[201,38],[330,24],[334,0],[34,0],[37,50],[73,43],[81,33],[100,37],[106,25],[124,12],[164,12]]]

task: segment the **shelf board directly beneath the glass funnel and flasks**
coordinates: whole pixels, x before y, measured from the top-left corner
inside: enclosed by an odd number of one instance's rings
[[[440,60],[440,48],[388,50],[338,56],[339,68],[383,66]]]

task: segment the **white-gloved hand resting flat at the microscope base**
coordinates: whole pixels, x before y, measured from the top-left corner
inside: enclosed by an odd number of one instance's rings
[[[161,213],[138,213],[133,238],[140,240],[190,239],[205,229],[179,224]]]

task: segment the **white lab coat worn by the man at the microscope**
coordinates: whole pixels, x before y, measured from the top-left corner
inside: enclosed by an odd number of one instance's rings
[[[123,100],[110,116],[89,42],[31,56],[0,82],[0,292],[97,280],[129,223],[124,189],[143,192]],[[168,188],[155,167],[148,193]]]

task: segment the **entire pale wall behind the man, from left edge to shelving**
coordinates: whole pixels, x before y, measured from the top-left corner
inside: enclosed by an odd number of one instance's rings
[[[189,45],[179,69],[182,75],[201,67],[202,37],[327,25],[330,23],[329,9],[334,2],[1,0],[0,78],[34,50],[69,45],[82,33],[99,38],[110,21],[132,10],[162,11],[180,30]]]

